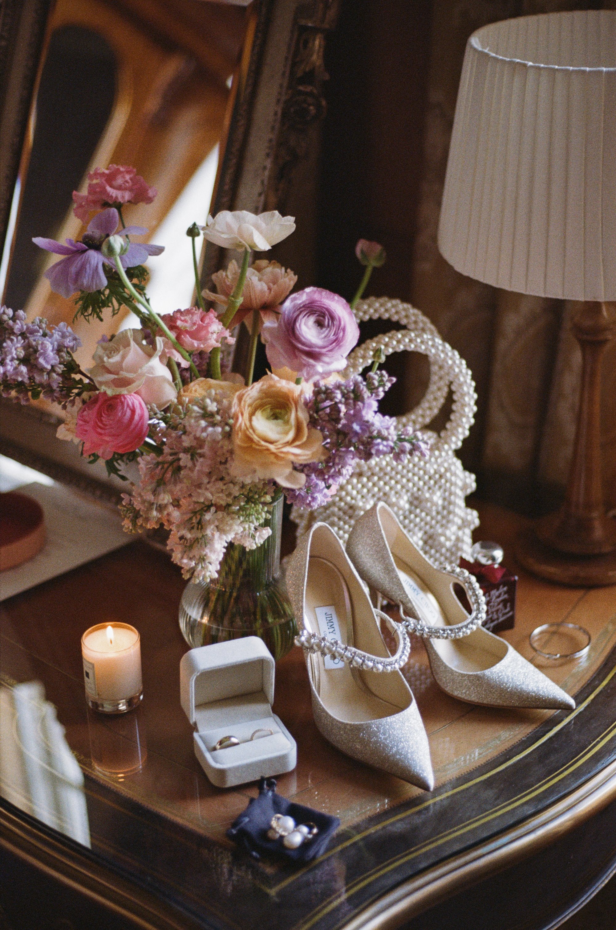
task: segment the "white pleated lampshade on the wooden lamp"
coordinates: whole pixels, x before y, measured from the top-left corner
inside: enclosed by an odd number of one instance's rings
[[[470,36],[439,249],[506,290],[616,300],[616,10]]]

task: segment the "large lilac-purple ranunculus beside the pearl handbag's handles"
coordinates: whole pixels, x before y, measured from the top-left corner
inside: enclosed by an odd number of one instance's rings
[[[347,301],[322,287],[292,294],[280,318],[266,321],[261,330],[272,368],[291,368],[308,381],[342,371],[359,338]]]

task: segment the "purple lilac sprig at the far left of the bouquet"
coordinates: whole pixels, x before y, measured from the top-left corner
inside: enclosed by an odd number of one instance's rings
[[[49,326],[37,316],[28,323],[22,310],[0,307],[0,392],[3,397],[46,397],[66,405],[90,385],[72,357],[81,345],[66,323]]]

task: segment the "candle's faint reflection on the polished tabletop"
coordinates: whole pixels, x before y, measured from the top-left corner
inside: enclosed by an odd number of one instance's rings
[[[92,764],[98,772],[124,781],[143,768],[148,751],[140,708],[113,719],[88,708],[87,729]]]

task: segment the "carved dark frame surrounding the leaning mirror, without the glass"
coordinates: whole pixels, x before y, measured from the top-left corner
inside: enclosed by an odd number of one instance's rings
[[[310,132],[325,113],[323,50],[339,6],[340,0],[256,0],[229,104],[215,212],[259,212],[264,206],[282,205],[294,168],[308,151]],[[0,240],[5,271],[16,213],[11,204],[19,199],[27,167],[28,125],[51,7],[52,0],[4,0],[0,9],[0,56],[7,52],[4,67],[0,64]],[[203,278],[220,259],[220,250],[208,244]],[[76,446],[67,448],[69,444],[56,440],[52,419],[36,408],[26,413],[1,401],[5,452],[98,497],[117,498],[118,483],[96,467],[88,466],[85,474]]]

